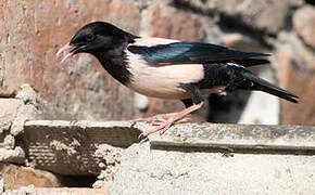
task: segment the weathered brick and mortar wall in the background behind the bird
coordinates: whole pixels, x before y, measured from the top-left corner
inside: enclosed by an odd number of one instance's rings
[[[281,101],[281,122],[315,123],[315,9],[303,0],[2,0],[0,95],[12,96],[27,82],[43,100],[43,118],[106,120],[139,115],[134,93],[93,57],[81,54],[63,65],[55,57],[56,50],[91,21],[108,21],[143,36],[273,53],[279,84],[301,96],[299,105]],[[162,102],[164,108],[156,100],[149,103],[149,113],[181,106],[173,101]]]

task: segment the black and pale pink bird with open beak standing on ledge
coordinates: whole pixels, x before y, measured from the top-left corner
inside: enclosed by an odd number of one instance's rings
[[[292,103],[299,96],[255,76],[248,67],[267,64],[270,54],[244,52],[213,43],[140,37],[106,22],[91,22],[56,53],[62,58],[89,53],[127,88],[152,98],[180,100],[185,109],[131,120],[154,128],[141,133],[162,135],[175,123],[188,121],[204,105],[204,95],[236,90],[263,91]]]

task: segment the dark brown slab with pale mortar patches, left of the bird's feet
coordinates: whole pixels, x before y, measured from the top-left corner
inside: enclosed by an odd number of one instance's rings
[[[35,168],[96,176],[102,169],[113,169],[124,148],[139,142],[139,134],[123,121],[35,120],[25,122],[23,139]]]

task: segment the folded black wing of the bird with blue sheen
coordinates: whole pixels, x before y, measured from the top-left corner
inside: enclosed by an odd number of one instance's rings
[[[141,55],[144,61],[152,64],[237,63],[243,66],[253,66],[269,62],[264,58],[252,58],[268,56],[269,54],[242,52],[201,42],[173,42],[153,47],[129,46],[128,50]]]

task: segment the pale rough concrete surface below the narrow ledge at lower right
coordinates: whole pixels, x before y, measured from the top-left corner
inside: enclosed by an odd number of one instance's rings
[[[152,150],[134,144],[110,194],[314,194],[315,156]]]

